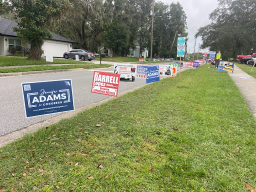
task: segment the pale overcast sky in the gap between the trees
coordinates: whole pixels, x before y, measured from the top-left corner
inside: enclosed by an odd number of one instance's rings
[[[209,13],[211,13],[217,7],[217,0],[160,0],[166,4],[177,1],[182,5],[183,10],[187,16],[187,51],[193,52],[194,50],[194,35],[201,26],[205,26],[210,23]],[[198,51],[199,43],[201,43],[201,37],[196,39],[195,52]],[[208,51],[202,49],[200,52]]]

